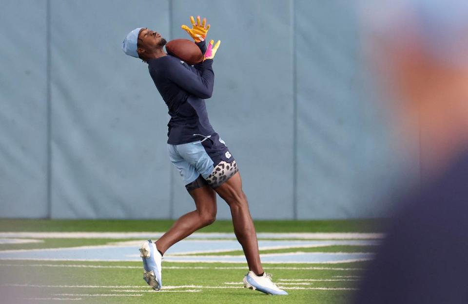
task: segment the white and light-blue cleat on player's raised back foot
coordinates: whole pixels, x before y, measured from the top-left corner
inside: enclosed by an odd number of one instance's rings
[[[140,247],[140,257],[143,259],[143,280],[154,290],[162,288],[161,254],[156,249],[155,243],[151,240],[145,241]]]

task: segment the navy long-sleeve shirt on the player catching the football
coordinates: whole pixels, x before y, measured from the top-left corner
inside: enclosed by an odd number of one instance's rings
[[[204,54],[205,42],[197,45]],[[192,67],[171,55],[148,60],[151,78],[171,115],[167,143],[191,143],[215,134],[204,101],[213,93],[212,64],[213,60],[207,59]]]

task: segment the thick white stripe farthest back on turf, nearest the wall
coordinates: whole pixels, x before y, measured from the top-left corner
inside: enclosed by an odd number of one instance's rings
[[[0,232],[0,237],[20,238],[159,238],[164,232]],[[382,239],[383,233],[359,232],[258,232],[257,238],[278,239]],[[234,233],[195,232],[189,238],[234,238]]]

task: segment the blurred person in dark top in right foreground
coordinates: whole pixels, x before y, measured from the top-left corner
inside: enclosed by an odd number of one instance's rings
[[[468,303],[468,1],[383,2],[362,6],[365,50],[399,127],[420,131],[422,182],[354,301]]]

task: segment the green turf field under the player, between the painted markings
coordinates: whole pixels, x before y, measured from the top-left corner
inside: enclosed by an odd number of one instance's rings
[[[162,232],[172,221],[148,220],[0,220],[0,232]],[[379,232],[376,220],[352,221],[257,221],[258,232]],[[151,229],[149,228],[151,227]],[[203,232],[232,232],[229,221],[218,221]],[[118,235],[117,235],[118,236]],[[5,235],[0,240],[8,239]],[[13,237],[12,237],[13,239]],[[141,241],[134,237],[18,237],[16,240],[36,240],[25,244],[0,242],[0,258],[5,252],[24,253],[34,249],[72,249],[80,246],[114,246]],[[226,240],[229,238],[226,238]],[[196,241],[197,238],[194,238]],[[262,239],[259,238],[259,241]],[[204,242],[223,241],[221,238]],[[133,245],[132,245],[133,246]],[[208,246],[209,247],[209,246]],[[117,248],[117,247],[116,247]],[[372,252],[376,246],[332,245],[320,247],[294,247],[261,250],[261,254],[282,253],[337,253]],[[81,248],[82,249],[82,248]],[[118,248],[117,248],[118,249]],[[198,248],[194,248],[197,250]],[[209,248],[203,250],[209,251]],[[20,251],[11,251],[20,250]],[[137,252],[137,247],[135,248]],[[132,251],[133,252],[133,251]],[[234,257],[238,250],[211,253],[187,253],[185,256],[204,255]],[[168,257],[169,259],[169,257]],[[163,289],[156,292],[142,280],[141,262],[91,261],[48,259],[0,259],[0,294],[20,299],[18,303],[346,303],[358,284],[366,262],[349,263],[299,263],[268,264],[267,272],[273,273],[273,282],[284,288],[288,296],[267,296],[258,291],[243,288],[242,278],[247,272],[246,263],[163,262]],[[2,302],[5,303],[5,302]]]

